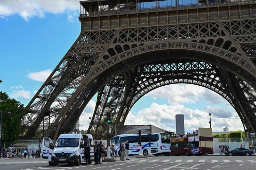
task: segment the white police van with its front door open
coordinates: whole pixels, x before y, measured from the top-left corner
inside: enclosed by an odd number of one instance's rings
[[[91,134],[61,134],[54,145],[50,138],[43,138],[42,153],[43,160],[49,162],[49,166],[57,164],[75,164],[79,166],[85,161],[84,143],[87,142],[91,148],[90,157],[94,158],[93,136]]]

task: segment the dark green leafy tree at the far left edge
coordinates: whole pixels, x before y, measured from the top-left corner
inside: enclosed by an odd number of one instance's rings
[[[27,114],[24,104],[15,99],[10,99],[6,92],[0,91],[0,109],[2,110],[3,142],[13,142],[21,133],[22,120]],[[11,112],[12,114],[8,114]]]

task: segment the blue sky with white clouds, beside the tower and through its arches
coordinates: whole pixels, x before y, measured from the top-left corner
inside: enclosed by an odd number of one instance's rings
[[[81,31],[79,0],[0,1],[0,91],[27,105]],[[191,90],[192,89],[192,90]],[[80,117],[88,128],[96,97]],[[185,84],[157,88],[131,109],[125,124],[153,124],[175,132],[175,114],[184,114],[185,131],[209,127],[214,132],[243,130],[231,105],[215,92]],[[134,120],[137,120],[136,122]]]

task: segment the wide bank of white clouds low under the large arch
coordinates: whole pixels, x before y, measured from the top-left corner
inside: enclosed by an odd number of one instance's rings
[[[168,106],[157,103],[151,104],[149,108],[143,108],[137,115],[130,112],[125,125],[152,124],[167,131],[176,132],[176,114],[184,115],[185,132],[192,132],[193,129],[210,126],[208,112],[198,109],[192,110],[183,105]],[[223,132],[225,126],[228,126],[230,131],[243,131],[243,125],[237,113],[231,113],[228,118],[219,118],[218,114],[221,113],[214,113],[211,116],[213,132]]]

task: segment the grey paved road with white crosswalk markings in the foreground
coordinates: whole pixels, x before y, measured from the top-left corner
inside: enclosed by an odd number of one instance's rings
[[[255,170],[256,156],[157,156],[148,158],[130,157],[130,160],[103,162],[101,165],[73,166],[62,164],[56,167],[48,166],[42,159],[0,159],[0,169],[12,170],[130,170],[130,169],[225,169],[225,170]]]

